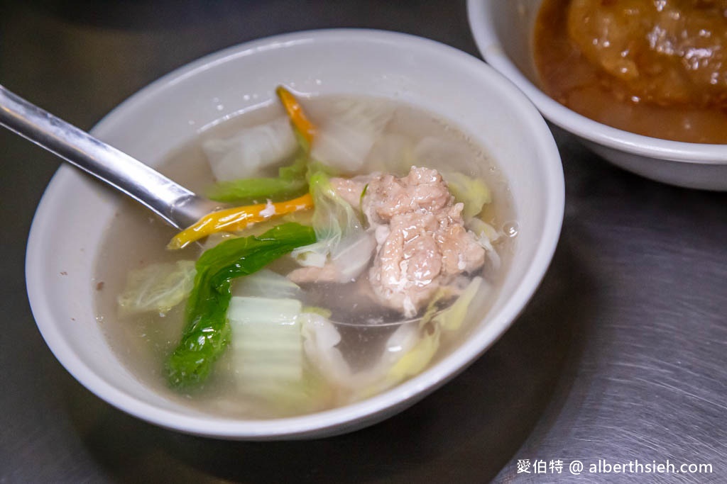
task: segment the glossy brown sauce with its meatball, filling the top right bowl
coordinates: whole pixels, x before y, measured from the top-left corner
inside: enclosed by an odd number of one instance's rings
[[[588,118],[727,144],[725,0],[545,0],[534,60],[542,89]]]

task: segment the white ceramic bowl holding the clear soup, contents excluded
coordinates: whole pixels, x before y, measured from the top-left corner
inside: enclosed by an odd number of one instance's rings
[[[332,435],[394,414],[486,350],[518,316],[550,263],[563,218],[563,173],[545,121],[523,94],[480,60],[399,33],[322,30],[264,38],[209,55],[142,89],[93,130],[150,165],[225,115],[273,99],[280,83],[310,94],[369,94],[456,121],[499,160],[520,234],[497,302],[457,350],[417,377],[366,401],[266,421],[200,414],[142,385],[109,349],[95,320],[92,276],[119,197],[68,166],[33,220],[26,279],[33,315],[58,360],[93,393],[148,422],[234,439]],[[223,106],[220,110],[220,105]],[[114,195],[114,196],[112,196]]]

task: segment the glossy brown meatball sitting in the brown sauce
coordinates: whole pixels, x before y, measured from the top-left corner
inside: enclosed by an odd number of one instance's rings
[[[573,0],[569,36],[614,89],[727,107],[727,1]]]

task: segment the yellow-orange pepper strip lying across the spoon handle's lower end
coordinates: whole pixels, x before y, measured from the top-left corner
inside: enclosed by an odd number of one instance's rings
[[[277,203],[259,203],[244,207],[226,208],[208,213],[196,223],[172,237],[168,249],[181,249],[202,237],[219,231],[237,231],[251,223],[266,221],[286,213],[313,208],[313,198],[307,193],[302,197]]]

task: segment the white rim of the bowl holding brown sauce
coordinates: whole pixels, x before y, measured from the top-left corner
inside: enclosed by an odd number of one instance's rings
[[[491,4],[493,0],[467,0],[475,44],[485,62],[513,81],[547,120],[583,139],[635,155],[698,165],[727,164],[727,144],[689,143],[631,133],[580,115],[547,96],[505,54],[497,36],[496,19],[487,8]]]

